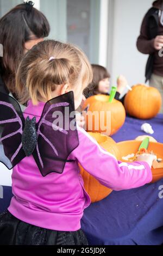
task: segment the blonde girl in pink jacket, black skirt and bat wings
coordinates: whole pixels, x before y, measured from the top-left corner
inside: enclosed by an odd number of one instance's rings
[[[23,58],[16,76],[20,102],[29,100],[23,113],[26,118],[23,133],[17,125],[23,118],[20,111],[15,119],[7,112],[13,123],[4,114],[6,107],[17,113],[19,108],[14,100],[5,95],[5,100],[0,101],[3,130],[0,161],[15,166],[14,197],[8,211],[0,215],[0,245],[87,245],[80,220],[90,205],[90,197],[84,190],[78,163],[113,190],[135,188],[152,181],[151,167],[156,156],[145,154],[141,155],[142,162],[137,159],[132,164],[122,163],[99,147],[84,129],[78,126],[73,129],[69,118],[64,127],[60,122],[60,126],[55,126],[52,119],[55,109],[57,116],[60,111],[67,120],[65,107],[70,107],[71,115],[91,81],[91,65],[76,46],[47,40],[34,46]],[[13,135],[17,126],[22,137]],[[24,141],[21,147],[18,138]]]

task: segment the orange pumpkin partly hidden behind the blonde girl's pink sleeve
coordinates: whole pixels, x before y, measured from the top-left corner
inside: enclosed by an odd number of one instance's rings
[[[117,149],[116,142],[112,138],[101,135],[101,133],[89,132],[89,134],[96,139],[101,147],[110,152],[112,155],[115,155],[117,159],[120,158],[121,154]],[[89,194],[92,203],[104,199],[112,192],[110,188],[101,185],[98,180],[87,173],[82,166],[79,165],[79,167],[80,174],[83,176],[85,190]]]

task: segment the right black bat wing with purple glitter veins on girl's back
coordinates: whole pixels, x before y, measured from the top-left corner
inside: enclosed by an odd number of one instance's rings
[[[33,156],[41,174],[62,173],[68,156],[79,145],[73,92],[48,101],[36,129]]]

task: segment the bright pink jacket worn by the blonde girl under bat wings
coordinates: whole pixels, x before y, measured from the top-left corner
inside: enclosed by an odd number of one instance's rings
[[[24,117],[39,121],[44,103],[33,106],[29,101]],[[83,211],[90,205],[84,190],[78,163],[112,190],[127,190],[143,186],[152,180],[146,162],[132,164],[117,161],[103,150],[82,128],[78,127],[79,146],[68,159],[62,174],[51,173],[43,178],[33,156],[26,157],[13,169],[14,197],[9,212],[21,221],[37,227],[76,231],[80,229]]]

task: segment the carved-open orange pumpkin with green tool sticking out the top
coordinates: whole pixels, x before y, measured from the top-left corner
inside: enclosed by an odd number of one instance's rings
[[[89,97],[82,106],[85,115],[86,130],[89,132],[101,132],[105,135],[113,135],[124,124],[126,111],[120,101],[109,102],[107,95],[95,95]]]

